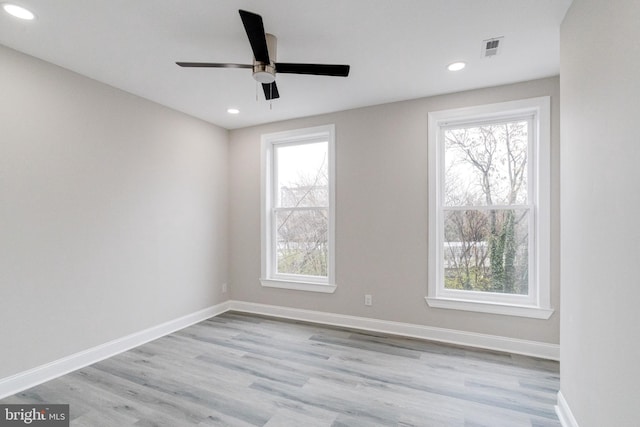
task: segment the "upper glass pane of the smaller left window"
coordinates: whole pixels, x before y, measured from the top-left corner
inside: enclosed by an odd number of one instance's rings
[[[329,205],[328,144],[283,145],[276,148],[276,205]]]

